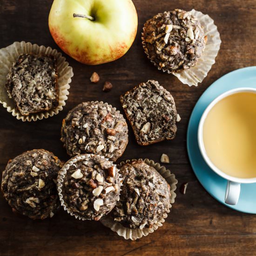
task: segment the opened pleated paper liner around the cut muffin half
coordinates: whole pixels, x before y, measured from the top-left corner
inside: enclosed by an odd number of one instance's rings
[[[42,111],[30,115],[21,115],[20,111],[16,108],[16,104],[13,99],[10,99],[5,84],[7,82],[7,74],[13,65],[13,62],[17,61],[21,54],[36,54],[45,56],[54,56],[57,61],[58,72],[58,95],[59,105],[48,111]],[[69,66],[66,59],[57,50],[53,50],[51,47],[38,46],[37,44],[31,44],[29,42],[14,42],[6,48],[0,49],[0,103],[3,104],[7,111],[12,113],[18,120],[22,121],[36,121],[49,116],[57,115],[59,111],[66,105],[69,83],[71,77],[73,77],[72,67]]]

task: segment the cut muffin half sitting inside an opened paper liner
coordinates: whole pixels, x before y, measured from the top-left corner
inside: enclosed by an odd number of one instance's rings
[[[6,89],[21,115],[47,111],[58,106],[56,59],[22,54],[7,74]]]

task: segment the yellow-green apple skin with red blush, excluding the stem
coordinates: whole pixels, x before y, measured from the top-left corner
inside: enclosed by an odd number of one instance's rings
[[[95,18],[74,18],[73,13]],[[97,65],[115,61],[131,47],[138,16],[131,0],[54,0],[49,29],[56,44],[75,60]]]

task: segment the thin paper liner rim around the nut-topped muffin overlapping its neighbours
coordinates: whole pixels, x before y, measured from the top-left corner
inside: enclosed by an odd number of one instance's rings
[[[67,174],[67,170],[69,169],[70,166],[72,166],[74,163],[80,161],[80,160],[83,160],[83,159],[86,159],[90,156],[93,156],[93,154],[84,154],[84,155],[77,155],[77,156],[74,156],[73,158],[71,158],[70,160],[68,160],[64,166],[61,168],[61,170],[59,171],[58,173],[58,177],[57,177],[57,191],[58,191],[58,195],[60,197],[60,201],[61,201],[61,206],[63,206],[64,210],[67,211],[67,213],[69,213],[71,216],[74,216],[76,219],[78,218],[79,220],[82,220],[82,221],[85,221],[85,220],[88,220],[87,218],[85,217],[82,217],[82,216],[79,216],[77,215],[76,213],[74,213],[73,211],[71,211],[70,209],[68,209],[67,205],[65,204],[64,200],[63,200],[63,195],[62,195],[62,183],[64,181],[64,177],[65,175]],[[97,156],[100,156],[102,159],[105,159],[108,161],[108,158],[105,158],[104,156],[102,155],[97,155]],[[110,161],[111,162],[111,161]],[[116,168],[116,164],[114,164],[115,168]],[[116,168],[118,169],[118,168]],[[119,177],[121,175],[119,174]],[[122,186],[122,184],[121,184]],[[89,219],[90,220],[90,219]]]

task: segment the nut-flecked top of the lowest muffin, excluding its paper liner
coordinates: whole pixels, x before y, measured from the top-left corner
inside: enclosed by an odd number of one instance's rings
[[[113,210],[114,220],[129,229],[152,228],[170,207],[168,183],[142,160],[121,165],[120,174],[123,186]]]

